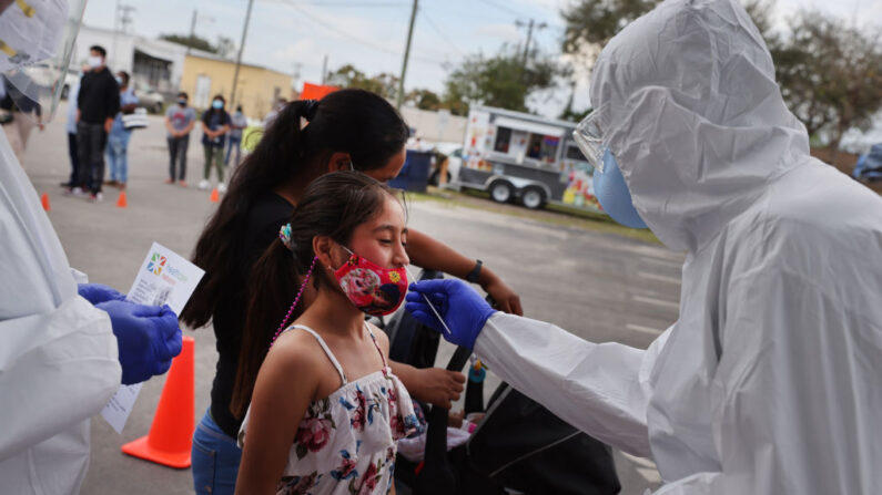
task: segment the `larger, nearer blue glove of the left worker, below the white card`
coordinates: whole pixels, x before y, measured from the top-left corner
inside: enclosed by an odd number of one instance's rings
[[[120,350],[123,385],[141,383],[169,371],[172,358],[181,353],[178,314],[168,305],[105,301],[95,308],[110,314]]]

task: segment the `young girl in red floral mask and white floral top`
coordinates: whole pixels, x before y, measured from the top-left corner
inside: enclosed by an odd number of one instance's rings
[[[234,409],[251,398],[237,494],[394,493],[396,441],[418,423],[386,361],[386,334],[365,313],[388,314],[404,300],[406,239],[391,189],[338,172],[312,183],[255,265],[233,394]],[[290,301],[273,295],[293,280],[302,285],[278,326],[267,314]],[[307,287],[316,293],[302,310]],[[257,349],[267,340],[268,352]]]

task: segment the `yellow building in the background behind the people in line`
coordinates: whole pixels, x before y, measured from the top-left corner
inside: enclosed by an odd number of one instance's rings
[[[230,102],[230,92],[235,69],[235,61],[194,51],[184,58],[181,91],[190,95],[190,104],[199,110],[207,109],[214,95],[222,94],[227,112],[232,112],[235,106]],[[243,63],[239,66],[235,103],[242,105],[247,117],[263,120],[274,101],[291,99],[291,83],[290,74]]]

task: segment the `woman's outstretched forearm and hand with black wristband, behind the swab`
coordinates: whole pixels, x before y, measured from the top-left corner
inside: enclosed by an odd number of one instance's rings
[[[416,266],[444,271],[462,279],[475,269],[477,262],[413,229],[407,234],[407,256]],[[524,314],[520,297],[486,265],[480,269],[478,283],[496,301],[496,309],[517,316]]]

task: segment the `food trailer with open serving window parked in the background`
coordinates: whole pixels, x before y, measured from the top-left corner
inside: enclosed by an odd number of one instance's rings
[[[572,122],[475,106],[468,113],[457,188],[487,190],[527,208],[559,203],[599,210],[594,168],[572,140]]]

